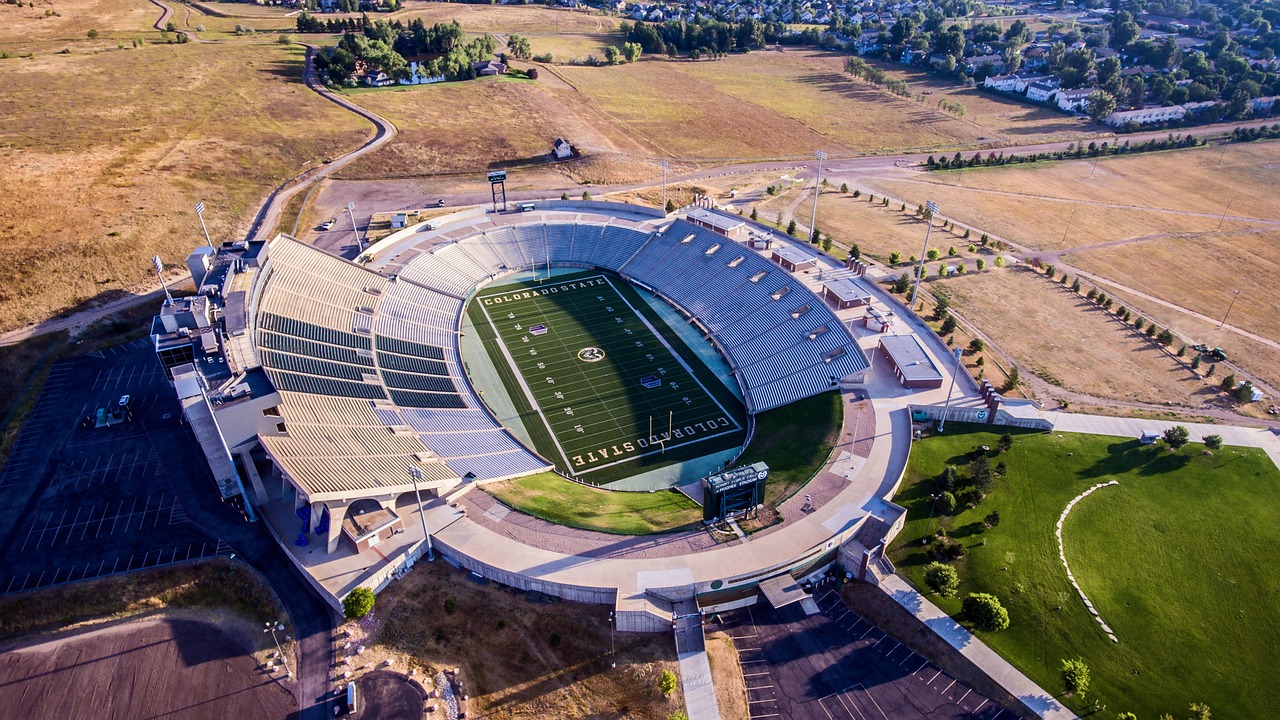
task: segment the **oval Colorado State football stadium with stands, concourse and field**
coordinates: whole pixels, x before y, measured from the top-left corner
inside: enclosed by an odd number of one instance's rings
[[[334,606],[422,556],[613,605],[623,630],[804,601],[841,557],[887,565],[909,445],[890,413],[936,402],[904,378],[947,356],[861,263],[707,208],[472,208],[353,259],[282,234],[188,265],[200,292],[165,304],[156,351],[224,500]],[[788,418],[815,396],[829,442],[774,487],[759,448],[814,443]],[[580,530],[485,489],[526,479],[568,512],[678,493],[701,521]]]

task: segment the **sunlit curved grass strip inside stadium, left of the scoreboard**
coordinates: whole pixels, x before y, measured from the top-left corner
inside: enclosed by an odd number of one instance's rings
[[[502,502],[549,523],[645,536],[692,529],[703,509],[677,491],[611,492],[541,473],[484,487]]]

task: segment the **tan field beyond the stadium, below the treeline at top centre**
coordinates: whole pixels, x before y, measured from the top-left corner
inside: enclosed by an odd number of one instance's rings
[[[1061,115],[964,91],[965,119],[937,110],[946,86],[913,76],[933,95],[901,99],[844,72],[845,56],[787,49],[718,61],[646,59],[612,68],[559,68],[590,102],[654,151],[682,159],[808,156],[931,149],[1078,132]],[[911,78],[909,78],[911,79]],[[961,92],[959,88],[956,92]],[[1006,137],[1007,136],[1007,137]]]

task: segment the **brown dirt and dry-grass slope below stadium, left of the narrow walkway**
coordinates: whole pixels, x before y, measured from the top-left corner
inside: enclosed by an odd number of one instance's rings
[[[339,674],[389,660],[430,691],[440,670],[457,667],[474,716],[663,720],[684,707],[678,689],[668,698],[657,688],[663,670],[677,673],[669,634],[616,633],[611,652],[609,607],[530,602],[444,561],[415,568],[344,632]]]

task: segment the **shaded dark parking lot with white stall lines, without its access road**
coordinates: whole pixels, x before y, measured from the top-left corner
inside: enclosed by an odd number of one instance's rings
[[[122,395],[129,421],[86,420]],[[0,470],[0,593],[228,553],[170,482],[200,454],[179,418],[146,340],[56,364]]]

